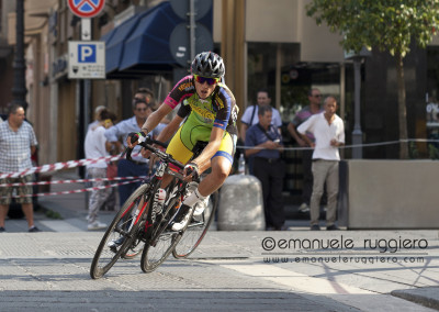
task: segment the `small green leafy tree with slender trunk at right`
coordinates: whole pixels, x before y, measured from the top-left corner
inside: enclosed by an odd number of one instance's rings
[[[399,138],[407,138],[406,96],[403,59],[410,41],[426,47],[436,35],[439,0],[312,0],[306,13],[317,24],[326,22],[331,32],[342,35],[345,51],[359,53],[363,46],[389,51],[395,57],[398,85]],[[407,144],[401,158],[408,157]]]

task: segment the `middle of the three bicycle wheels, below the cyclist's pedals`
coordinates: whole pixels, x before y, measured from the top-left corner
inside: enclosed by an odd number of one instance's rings
[[[165,218],[158,224],[155,224],[153,238],[145,244],[142,253],[140,268],[144,272],[151,272],[157,269],[168,256],[172,253],[175,246],[181,237],[181,233],[168,231],[170,207],[177,204],[177,199],[172,199],[165,212]]]

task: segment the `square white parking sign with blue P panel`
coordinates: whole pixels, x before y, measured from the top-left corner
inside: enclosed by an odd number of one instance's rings
[[[69,79],[105,79],[105,43],[70,41]]]

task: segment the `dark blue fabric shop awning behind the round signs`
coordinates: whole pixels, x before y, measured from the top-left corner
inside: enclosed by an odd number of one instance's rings
[[[171,55],[169,38],[182,22],[185,21],[166,1],[137,13],[102,36],[106,45],[106,77],[135,78],[180,68]],[[212,31],[212,11],[200,22]]]

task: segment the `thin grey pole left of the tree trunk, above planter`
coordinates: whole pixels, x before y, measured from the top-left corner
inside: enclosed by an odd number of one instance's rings
[[[354,109],[353,109],[353,132],[352,132],[352,144],[360,145],[362,144],[363,134],[361,132],[360,124],[360,90],[361,90],[361,57],[353,58],[353,80],[354,80]],[[352,149],[352,158],[361,159],[363,158],[362,147],[353,147]]]

